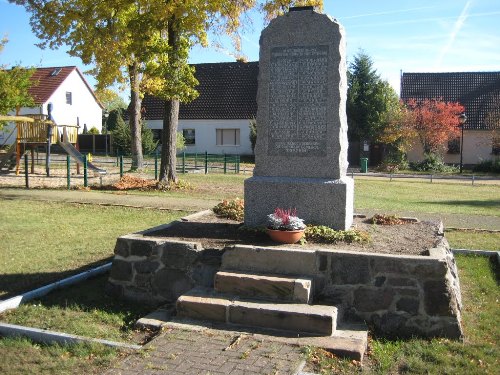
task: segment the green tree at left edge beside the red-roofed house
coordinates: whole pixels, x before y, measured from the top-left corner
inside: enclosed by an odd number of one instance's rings
[[[7,42],[7,38],[0,40],[0,52]],[[15,66],[8,69],[6,65],[0,65],[0,115],[6,115],[13,110],[17,112],[21,107],[31,107],[35,104],[28,91],[33,85],[31,77],[34,72],[33,68]]]

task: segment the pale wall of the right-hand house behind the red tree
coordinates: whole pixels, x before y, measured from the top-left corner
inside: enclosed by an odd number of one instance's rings
[[[465,130],[463,164],[478,164],[482,160],[494,159],[492,152],[492,131],[485,130]],[[408,160],[418,162],[423,160],[424,152],[422,145],[417,143],[413,149],[408,152]],[[445,154],[444,162],[449,164],[460,164],[460,154]]]

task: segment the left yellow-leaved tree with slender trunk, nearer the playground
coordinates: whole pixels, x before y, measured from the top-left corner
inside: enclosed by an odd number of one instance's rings
[[[140,108],[142,82],[150,48],[158,38],[154,12],[159,0],[9,0],[31,13],[30,24],[40,47],[69,47],[68,53],[94,65],[98,89],[115,82],[130,86],[132,168],[143,165]],[[153,4],[152,4],[153,3]],[[163,2],[165,4],[165,2]]]

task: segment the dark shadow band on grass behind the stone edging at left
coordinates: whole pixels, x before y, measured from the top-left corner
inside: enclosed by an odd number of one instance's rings
[[[112,260],[113,257],[107,257],[73,270],[61,272],[0,274],[0,293],[5,293],[3,295],[0,294],[0,300],[5,300],[62,280],[66,277],[77,275],[81,272],[109,263]]]

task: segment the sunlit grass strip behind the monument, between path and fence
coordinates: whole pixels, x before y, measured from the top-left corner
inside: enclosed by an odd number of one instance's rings
[[[161,193],[174,197],[230,199],[243,197],[243,174],[179,174],[193,190]],[[383,212],[415,211],[425,213],[456,213],[500,216],[500,183],[449,182],[436,180],[393,180],[355,177],[354,207]],[[128,192],[157,195],[157,192]],[[500,229],[500,228],[499,228]]]

